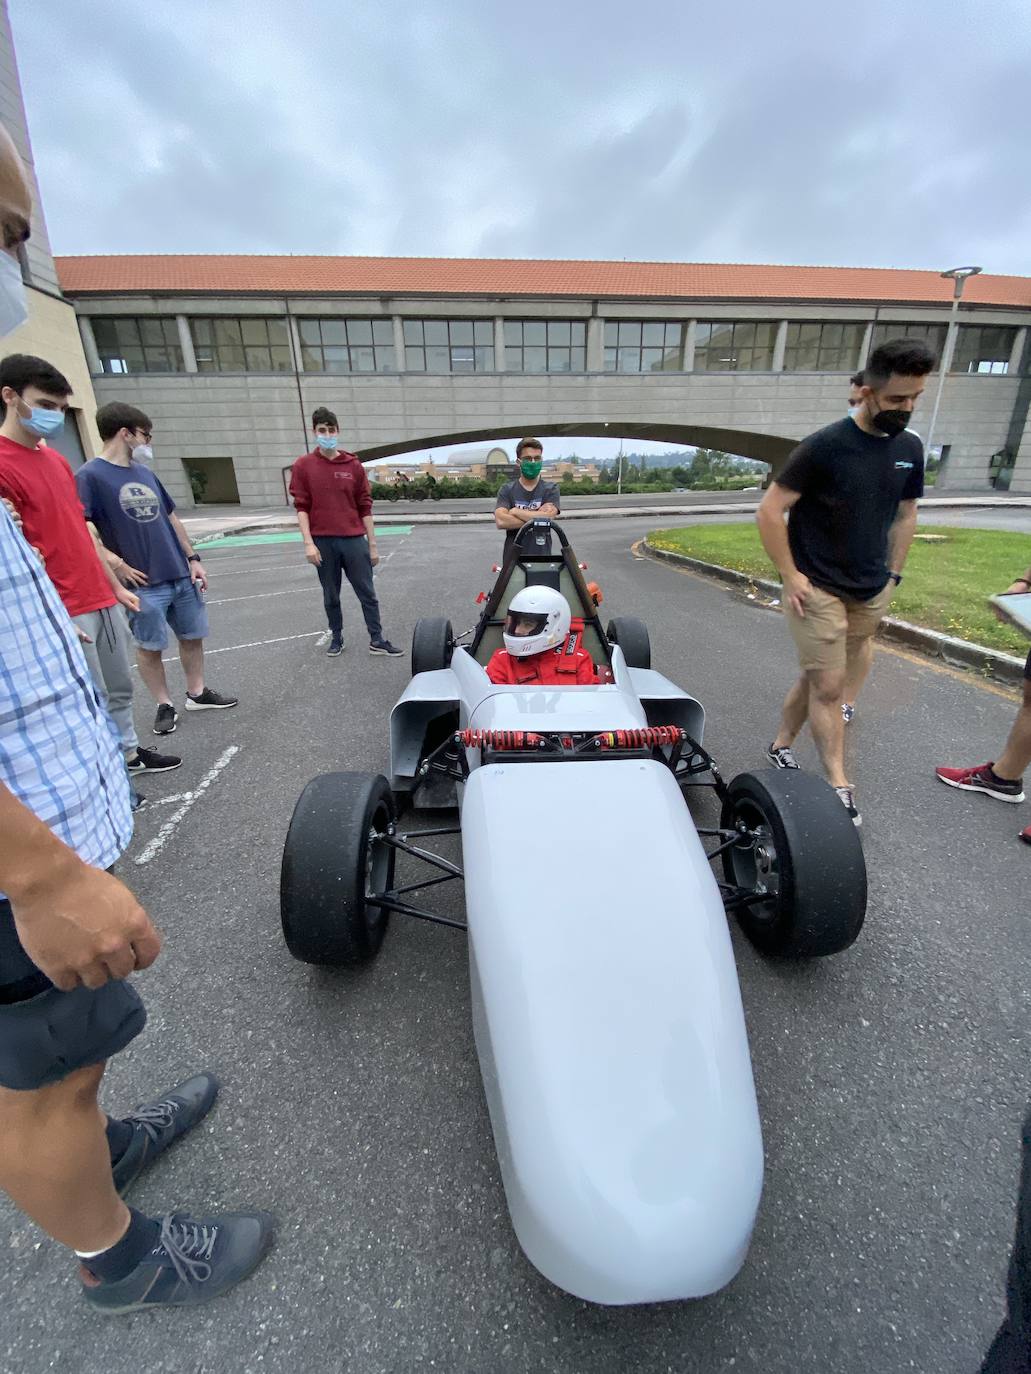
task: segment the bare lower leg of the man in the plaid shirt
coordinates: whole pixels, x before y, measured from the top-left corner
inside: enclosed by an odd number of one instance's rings
[[[96,1103],[103,1072],[78,1069],[34,1092],[0,1088],[0,1187],[55,1241],[87,1253],[129,1227]]]

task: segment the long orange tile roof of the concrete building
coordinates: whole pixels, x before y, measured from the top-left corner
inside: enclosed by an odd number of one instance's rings
[[[737,262],[373,258],[257,254],[59,257],[67,295],[93,293],[603,297],[947,304],[938,272]],[[1031,308],[1031,278],[982,273],[964,302]]]

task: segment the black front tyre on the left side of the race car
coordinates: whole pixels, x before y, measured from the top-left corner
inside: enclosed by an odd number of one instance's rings
[[[390,914],[370,894],[393,886],[396,859],[377,835],[393,820],[393,796],[378,774],[322,774],[304,789],[279,871],[279,915],[294,959],[355,966],[375,958]]]

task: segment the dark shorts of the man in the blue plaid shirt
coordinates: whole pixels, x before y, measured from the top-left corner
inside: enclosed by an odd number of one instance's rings
[[[126,981],[55,988],[22,949],[10,903],[0,899],[0,1087],[32,1091],[59,1083],[110,1059],[146,1024],[140,996]]]

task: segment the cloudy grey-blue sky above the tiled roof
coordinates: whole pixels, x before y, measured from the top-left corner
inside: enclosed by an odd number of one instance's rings
[[[1031,275],[1027,0],[10,0],[56,253]]]

